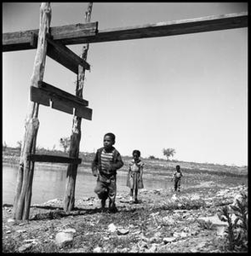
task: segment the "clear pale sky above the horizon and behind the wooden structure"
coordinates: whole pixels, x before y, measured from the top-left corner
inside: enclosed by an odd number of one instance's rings
[[[3,33],[39,27],[41,3],[3,3]],[[84,23],[88,3],[51,3],[51,26]],[[247,12],[247,3],[95,3],[99,29]],[[77,55],[83,45],[68,46]],[[25,134],[36,49],[3,52],[3,143]],[[122,155],[248,166],[248,28],[89,45],[80,151],[116,135]],[[43,81],[74,94],[77,76],[46,58]],[[40,105],[37,147],[60,148],[72,115]]]

